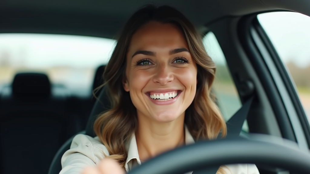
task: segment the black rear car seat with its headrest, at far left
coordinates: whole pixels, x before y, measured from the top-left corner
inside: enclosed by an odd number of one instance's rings
[[[53,94],[43,73],[18,73],[2,90],[0,173],[47,173],[54,154],[74,134],[66,96]]]

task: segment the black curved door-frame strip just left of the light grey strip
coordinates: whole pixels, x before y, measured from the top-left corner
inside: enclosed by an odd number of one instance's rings
[[[279,91],[250,33],[250,26],[256,15],[252,14],[241,18],[238,24],[238,37],[268,96],[282,137],[296,142],[296,137]]]

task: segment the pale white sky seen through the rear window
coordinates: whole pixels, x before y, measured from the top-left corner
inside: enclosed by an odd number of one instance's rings
[[[115,43],[85,36],[0,34],[0,61],[8,55],[12,66],[98,67],[108,61]]]

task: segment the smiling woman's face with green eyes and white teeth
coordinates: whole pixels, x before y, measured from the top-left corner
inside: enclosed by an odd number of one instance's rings
[[[171,122],[184,116],[196,94],[197,66],[179,28],[145,24],[132,36],[126,61],[124,89],[139,117]]]

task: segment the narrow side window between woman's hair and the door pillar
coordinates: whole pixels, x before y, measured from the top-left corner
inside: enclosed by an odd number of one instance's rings
[[[214,33],[208,32],[203,38],[203,44],[206,52],[213,59],[216,65],[215,83],[213,91],[215,92],[219,108],[227,121],[241,108],[241,101],[227,67],[224,53],[217,41]],[[243,125],[243,131],[248,132],[247,123]]]

